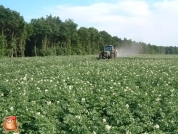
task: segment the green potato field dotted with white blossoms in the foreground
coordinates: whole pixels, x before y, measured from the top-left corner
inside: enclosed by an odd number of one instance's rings
[[[1,58],[11,115],[20,134],[176,134],[178,55]]]

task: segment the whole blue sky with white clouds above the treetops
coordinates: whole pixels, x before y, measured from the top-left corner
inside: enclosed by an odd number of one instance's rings
[[[52,15],[121,39],[178,47],[178,0],[0,0],[0,5],[26,22]]]

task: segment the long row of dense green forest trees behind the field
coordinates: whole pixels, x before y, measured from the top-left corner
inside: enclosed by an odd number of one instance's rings
[[[0,57],[98,54],[106,44],[139,48],[140,54],[178,54],[178,47],[163,47],[111,36],[94,27],[80,27],[47,15],[29,23],[17,11],[0,5]]]

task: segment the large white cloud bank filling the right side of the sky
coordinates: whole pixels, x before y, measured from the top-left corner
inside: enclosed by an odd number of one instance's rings
[[[95,27],[112,36],[161,46],[178,46],[178,1],[144,0],[98,2],[88,6],[59,5],[47,12],[79,27]]]

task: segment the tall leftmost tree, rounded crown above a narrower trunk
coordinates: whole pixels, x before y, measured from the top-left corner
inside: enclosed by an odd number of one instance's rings
[[[5,37],[8,56],[18,56],[18,41],[25,29],[25,21],[16,11],[0,6],[0,33]]]

